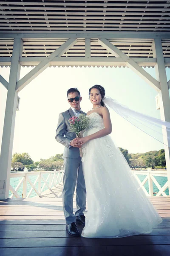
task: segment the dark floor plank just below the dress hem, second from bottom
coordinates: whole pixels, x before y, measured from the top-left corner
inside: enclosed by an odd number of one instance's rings
[[[85,239],[85,238],[30,238],[30,239],[0,239],[0,248],[6,247],[51,247],[51,246],[113,246],[170,244],[170,236],[130,236],[121,239]]]

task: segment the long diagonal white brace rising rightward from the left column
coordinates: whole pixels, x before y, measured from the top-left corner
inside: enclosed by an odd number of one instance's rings
[[[40,64],[34,67],[26,76],[24,76],[20,81],[17,82],[16,90],[19,92],[22,90],[28,83],[30,83],[34,78],[36,78],[43,70],[45,70],[50,65],[56,56],[60,57],[68,49],[70,49],[74,44],[76,44],[77,39],[68,39],[64,44],[62,44],[58,49],[56,49],[51,55],[45,58]]]

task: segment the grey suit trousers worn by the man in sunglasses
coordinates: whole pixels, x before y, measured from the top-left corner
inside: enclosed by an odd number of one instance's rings
[[[64,216],[67,224],[76,222],[76,216],[84,215],[86,206],[85,179],[82,172],[81,157],[64,157],[63,164],[65,173],[63,177],[62,203]],[[73,197],[76,188],[76,206],[75,215],[73,213]]]

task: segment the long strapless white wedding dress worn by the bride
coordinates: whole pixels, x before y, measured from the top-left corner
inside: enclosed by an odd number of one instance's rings
[[[102,117],[89,115],[83,137],[104,128]],[[90,140],[82,147],[88,212],[82,237],[115,238],[150,233],[162,222],[111,137]]]

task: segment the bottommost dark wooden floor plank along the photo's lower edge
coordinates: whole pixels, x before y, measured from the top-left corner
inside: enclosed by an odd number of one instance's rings
[[[169,256],[170,245],[1,248],[2,256]]]

